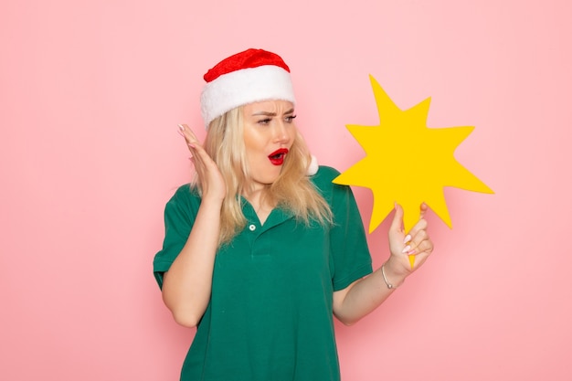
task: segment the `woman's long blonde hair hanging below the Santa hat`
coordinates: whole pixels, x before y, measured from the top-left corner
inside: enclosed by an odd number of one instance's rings
[[[226,112],[210,122],[205,150],[218,166],[227,185],[221,211],[218,242],[228,243],[246,226],[242,214],[242,195],[249,192],[249,167],[244,145],[242,107]],[[311,156],[300,132],[284,160],[276,181],[266,185],[262,199],[271,206],[290,211],[298,221],[309,225],[312,220],[322,225],[332,223],[332,211],[323,196],[306,175]],[[195,186],[201,192],[200,184]]]

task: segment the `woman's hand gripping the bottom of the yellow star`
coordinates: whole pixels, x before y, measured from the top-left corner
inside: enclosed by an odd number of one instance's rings
[[[427,233],[428,223],[425,219],[427,209],[425,203],[421,204],[419,220],[406,234],[403,230],[403,208],[396,205],[396,213],[388,232],[391,256],[385,267],[386,271],[396,274],[399,278],[405,278],[417,270],[433,251],[433,242]],[[411,255],[415,256],[413,267],[409,262]]]

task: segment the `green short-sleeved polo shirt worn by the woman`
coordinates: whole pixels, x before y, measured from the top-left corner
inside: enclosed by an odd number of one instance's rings
[[[312,182],[334,224],[306,226],[275,208],[264,225],[244,201],[246,227],[217,252],[211,300],[186,355],[182,381],[339,380],[333,292],[372,271],[363,223],[351,189],[320,167]],[[163,273],[185,245],[200,197],[181,186],[165,207]]]

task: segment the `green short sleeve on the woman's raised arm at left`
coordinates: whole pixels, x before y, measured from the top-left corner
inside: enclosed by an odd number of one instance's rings
[[[155,254],[153,261],[154,277],[161,288],[164,272],[185,246],[199,205],[200,197],[187,184],[179,187],[164,207],[163,249]]]

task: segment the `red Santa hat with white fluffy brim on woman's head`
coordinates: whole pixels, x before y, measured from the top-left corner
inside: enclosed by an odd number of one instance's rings
[[[277,54],[250,48],[207,71],[201,113],[208,124],[227,111],[255,101],[295,103],[290,68]]]

